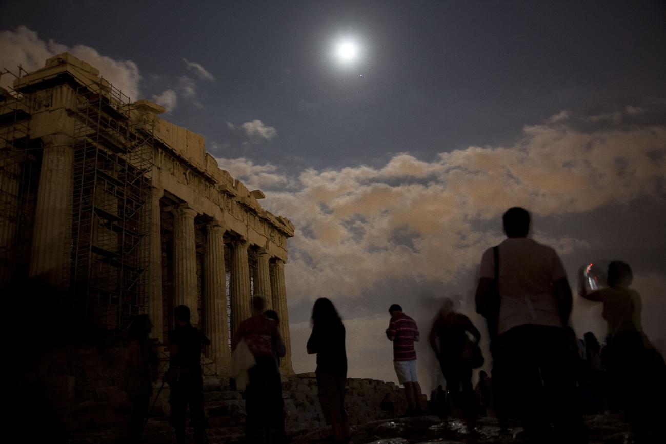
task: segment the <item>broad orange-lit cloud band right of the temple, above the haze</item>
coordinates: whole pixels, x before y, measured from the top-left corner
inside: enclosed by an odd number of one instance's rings
[[[430,162],[401,153],[377,168],[294,177],[244,158],[220,165],[268,186],[269,210],[296,224],[286,266],[292,300],[358,298],[386,276],[456,282],[501,240],[499,224],[487,224],[509,206],[544,217],[585,214],[663,192],[666,127],[583,131],[568,112],[558,115],[525,126],[510,146],[470,146]],[[590,248],[570,236],[544,241],[561,254]]]

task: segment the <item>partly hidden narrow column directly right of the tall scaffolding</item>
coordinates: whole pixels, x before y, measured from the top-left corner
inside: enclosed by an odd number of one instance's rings
[[[146,280],[146,295],[148,297],[147,314],[153,321],[153,337],[162,342],[163,312],[162,312],[162,229],[160,220],[160,199],[164,190],[153,188],[150,202],[150,230],[148,240],[148,270]]]

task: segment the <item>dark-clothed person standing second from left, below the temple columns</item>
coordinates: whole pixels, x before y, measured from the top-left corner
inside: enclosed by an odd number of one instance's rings
[[[169,332],[169,369],[166,379],[171,387],[170,423],[176,430],[176,443],[185,442],[186,411],[194,427],[194,443],[203,443],[204,394],[201,369],[201,347],[210,341],[190,324],[190,309],[177,306],[173,310],[176,328]]]

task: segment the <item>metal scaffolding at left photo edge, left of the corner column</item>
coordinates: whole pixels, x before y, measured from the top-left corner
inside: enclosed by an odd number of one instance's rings
[[[20,66],[18,75],[3,69],[0,80],[20,79],[24,73]],[[0,285],[27,272],[37,195],[30,118],[27,97],[0,89]]]

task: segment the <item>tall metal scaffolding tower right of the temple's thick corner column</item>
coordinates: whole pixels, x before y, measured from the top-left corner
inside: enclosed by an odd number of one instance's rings
[[[154,120],[103,79],[77,89],[71,290],[100,328],[145,305]]]

